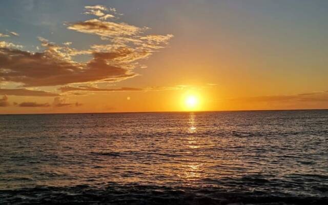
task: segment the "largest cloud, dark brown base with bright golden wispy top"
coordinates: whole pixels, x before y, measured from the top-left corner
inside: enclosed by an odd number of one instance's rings
[[[101,5],[86,9],[116,12]],[[103,17],[108,19],[106,15]],[[42,37],[38,37],[44,47],[42,52],[24,51],[0,42],[0,81],[19,83],[22,87],[39,87],[125,80],[138,75],[133,70],[142,67],[139,60],[165,47],[173,37],[171,34],[146,35],[146,28],[105,20],[68,23],[70,30],[107,39],[107,44],[91,45],[87,50],[71,48],[71,42],[56,45]],[[91,59],[73,60],[78,55],[91,55]]]

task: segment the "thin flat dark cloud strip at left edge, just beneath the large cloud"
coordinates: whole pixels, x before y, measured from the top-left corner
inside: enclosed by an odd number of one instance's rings
[[[51,93],[41,90],[20,89],[3,89],[0,88],[0,95],[16,95],[16,96],[37,96],[37,97],[51,97],[59,96],[57,93]]]

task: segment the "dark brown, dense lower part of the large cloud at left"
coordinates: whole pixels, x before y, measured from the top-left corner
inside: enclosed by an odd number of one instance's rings
[[[58,53],[57,53],[58,54]],[[78,64],[47,52],[29,53],[17,49],[0,48],[0,80],[22,83],[26,87],[56,86],[89,81],[118,81],[133,77],[129,70],[108,64],[127,53],[93,53],[87,64]]]

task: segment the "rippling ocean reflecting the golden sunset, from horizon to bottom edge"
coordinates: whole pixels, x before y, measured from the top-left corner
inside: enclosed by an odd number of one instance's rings
[[[328,111],[0,115],[0,204],[328,204]]]

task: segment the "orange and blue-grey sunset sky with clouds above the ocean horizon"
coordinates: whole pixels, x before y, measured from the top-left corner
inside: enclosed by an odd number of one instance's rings
[[[328,109],[328,1],[0,1],[0,114]]]

